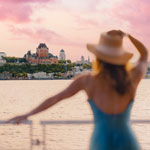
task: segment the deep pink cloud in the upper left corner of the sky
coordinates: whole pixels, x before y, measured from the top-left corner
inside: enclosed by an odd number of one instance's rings
[[[1,0],[0,20],[26,23],[32,15],[31,3],[48,3],[55,0]]]

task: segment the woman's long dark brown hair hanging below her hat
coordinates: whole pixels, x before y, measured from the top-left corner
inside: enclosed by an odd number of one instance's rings
[[[99,75],[109,75],[112,80],[112,88],[120,95],[124,95],[131,87],[131,80],[126,65],[113,65],[96,59],[93,70]]]

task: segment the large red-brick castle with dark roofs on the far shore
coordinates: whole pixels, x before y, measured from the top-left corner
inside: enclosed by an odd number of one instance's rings
[[[27,62],[32,64],[53,64],[58,63],[58,57],[49,53],[49,48],[45,43],[40,43],[36,49],[36,53],[31,53],[29,50],[27,54],[24,55]]]

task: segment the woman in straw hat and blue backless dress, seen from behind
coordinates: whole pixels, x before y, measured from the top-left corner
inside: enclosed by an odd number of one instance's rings
[[[101,34],[97,45],[87,45],[88,50],[96,56],[97,69],[93,69],[95,74],[78,77],[64,91],[46,99],[31,112],[10,121],[20,123],[80,90],[85,90],[95,123],[90,150],[139,150],[129,117],[137,86],[147,69],[148,51],[141,42],[127,35],[140,53],[137,65],[127,69],[133,54],[123,49],[124,36],[120,30]]]

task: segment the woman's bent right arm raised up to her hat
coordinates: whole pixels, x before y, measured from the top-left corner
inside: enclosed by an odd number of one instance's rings
[[[136,84],[138,84],[147,70],[148,50],[140,41],[135,39],[133,36],[128,35],[128,37],[140,53],[140,58],[137,62],[137,65],[131,70],[132,79],[135,81]]]

